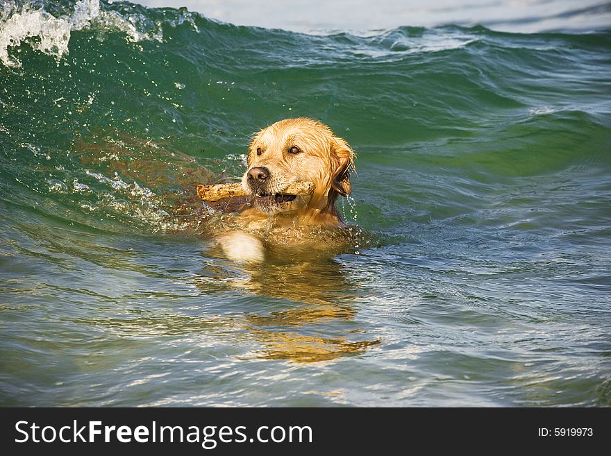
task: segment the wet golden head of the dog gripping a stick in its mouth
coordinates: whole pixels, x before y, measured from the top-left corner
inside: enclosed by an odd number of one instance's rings
[[[335,212],[338,195],[351,192],[354,153],[319,121],[299,117],[276,122],[253,137],[242,187],[264,214],[308,210]],[[314,194],[284,194],[290,183],[309,180]]]

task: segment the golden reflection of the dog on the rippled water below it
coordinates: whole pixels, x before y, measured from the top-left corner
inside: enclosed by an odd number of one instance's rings
[[[316,362],[363,353],[379,339],[368,340],[365,330],[353,324],[351,305],[358,284],[333,260],[301,261],[246,266],[231,277],[229,269],[216,268],[214,282],[226,282],[256,296],[283,303],[281,310],[246,313],[244,327],[265,348],[257,356],[274,360]],[[209,287],[210,277],[198,285]],[[285,300],[290,303],[285,304]],[[296,303],[302,303],[301,305]]]

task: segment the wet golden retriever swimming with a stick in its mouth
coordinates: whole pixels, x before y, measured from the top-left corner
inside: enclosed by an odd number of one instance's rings
[[[262,262],[265,248],[260,233],[269,232],[272,225],[284,228],[284,244],[307,244],[303,235],[299,240],[292,235],[293,228],[345,226],[335,200],[351,192],[354,152],[328,126],[304,117],[278,121],[254,135],[247,162],[242,187],[251,196],[251,207],[240,214],[242,228],[217,236],[230,259]],[[315,183],[315,192],[310,196],[281,194],[299,180]]]

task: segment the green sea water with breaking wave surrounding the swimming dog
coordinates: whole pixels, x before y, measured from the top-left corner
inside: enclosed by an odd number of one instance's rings
[[[0,405],[611,405],[608,31],[71,4],[1,15]],[[296,116],[367,239],[234,264],[193,186]]]

